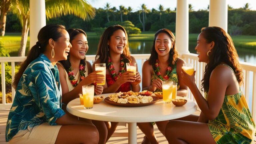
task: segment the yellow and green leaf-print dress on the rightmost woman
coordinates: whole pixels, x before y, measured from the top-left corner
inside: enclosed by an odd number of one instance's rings
[[[225,95],[218,116],[209,120],[208,126],[217,144],[253,142],[255,123],[241,90],[235,95]]]

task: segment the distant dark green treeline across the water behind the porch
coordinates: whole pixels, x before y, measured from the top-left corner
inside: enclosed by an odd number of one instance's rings
[[[145,6],[145,5],[144,5]],[[181,18],[182,19],[182,18]],[[141,31],[157,31],[167,28],[175,32],[176,11],[169,8],[166,10],[152,9],[148,10],[141,7],[141,10],[132,12],[131,8],[122,8],[119,10],[115,7],[108,9],[96,9],[96,16],[90,21],[73,15],[61,16],[56,19],[49,19],[47,24],[62,24],[69,28],[80,28],[86,32],[95,32],[100,28],[108,27],[112,24],[122,24],[124,21],[130,21]],[[199,33],[202,27],[207,27],[209,22],[209,11],[199,10],[189,11],[189,33]],[[16,15],[7,14],[6,32],[21,32],[21,25]],[[243,8],[228,10],[228,32],[230,35],[256,35],[256,11]]]

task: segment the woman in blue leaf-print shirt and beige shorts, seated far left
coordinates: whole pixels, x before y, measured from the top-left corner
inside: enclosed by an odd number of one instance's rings
[[[9,143],[98,143],[96,127],[62,109],[56,63],[66,60],[71,48],[61,25],[47,25],[34,45],[13,86],[15,98],[6,124]]]

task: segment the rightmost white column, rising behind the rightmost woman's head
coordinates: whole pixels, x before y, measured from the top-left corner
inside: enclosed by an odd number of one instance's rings
[[[221,27],[228,30],[228,5],[227,0],[210,0],[209,27]]]

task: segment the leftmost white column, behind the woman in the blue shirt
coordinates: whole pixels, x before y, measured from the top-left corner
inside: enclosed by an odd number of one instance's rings
[[[29,48],[31,48],[38,41],[39,30],[46,25],[45,0],[30,0],[29,9]]]

